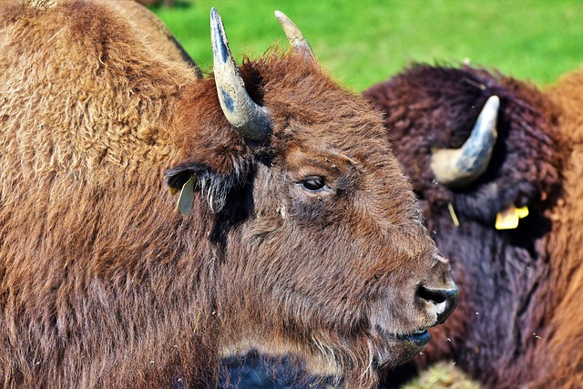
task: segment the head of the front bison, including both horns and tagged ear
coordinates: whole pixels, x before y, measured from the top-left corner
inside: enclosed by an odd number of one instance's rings
[[[203,261],[225,353],[301,353],[363,387],[429,341],[457,289],[381,115],[277,15],[295,52],[236,67],[211,11],[214,81],[185,91],[193,113],[176,120],[183,155],[167,181],[196,191],[190,219],[213,220]]]

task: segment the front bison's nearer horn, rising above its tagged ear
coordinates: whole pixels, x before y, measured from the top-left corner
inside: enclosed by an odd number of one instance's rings
[[[235,59],[230,53],[229,41],[217,10],[210,9],[210,38],[212,41],[212,68],[219,95],[220,107],[232,127],[244,138],[262,141],[271,133],[271,119],[266,107],[255,103],[239,75]]]

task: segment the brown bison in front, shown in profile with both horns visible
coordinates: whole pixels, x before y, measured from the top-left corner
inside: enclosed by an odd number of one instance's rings
[[[370,387],[417,353],[457,290],[382,116],[305,41],[236,67],[213,9],[202,79],[126,5],[0,3],[2,385],[208,387],[254,347]]]

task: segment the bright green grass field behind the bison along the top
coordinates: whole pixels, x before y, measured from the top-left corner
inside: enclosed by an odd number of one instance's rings
[[[324,67],[363,90],[411,62],[495,67],[552,83],[583,63],[582,0],[182,0],[156,8],[203,70],[210,70],[209,13],[223,18],[230,47],[259,56],[280,42],[273,11],[302,29]]]

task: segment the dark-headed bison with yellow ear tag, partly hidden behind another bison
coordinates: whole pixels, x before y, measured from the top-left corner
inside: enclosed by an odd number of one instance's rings
[[[464,296],[415,363],[450,358],[493,388],[581,387],[583,69],[540,90],[415,66],[364,95]],[[497,127],[482,137],[472,128],[488,99]]]

